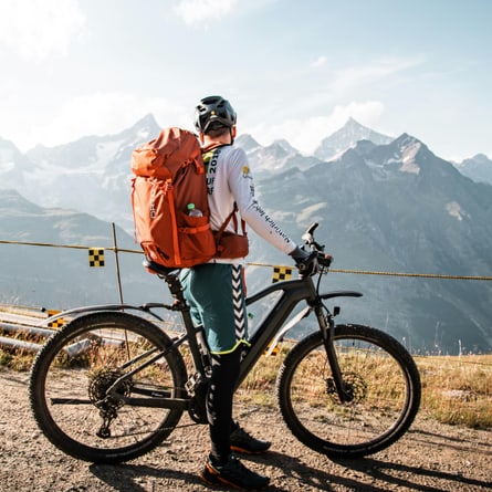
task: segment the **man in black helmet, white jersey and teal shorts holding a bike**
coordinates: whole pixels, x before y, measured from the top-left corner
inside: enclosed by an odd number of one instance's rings
[[[205,97],[196,107],[195,126],[207,167],[212,230],[220,229],[237,203],[241,219],[261,238],[290,254],[303,274],[316,273],[315,254],[299,248],[254,198],[247,155],[233,145],[235,123],[234,109],[221,96]],[[235,231],[233,221],[226,230]],[[193,322],[203,326],[212,356],[207,395],[211,451],[201,478],[209,484],[252,490],[266,486],[270,479],[245,468],[232,451],[261,453],[271,443],[251,437],[232,420],[233,388],[242,348],[248,346],[243,262],[244,258],[216,258],[184,271],[181,282]]]

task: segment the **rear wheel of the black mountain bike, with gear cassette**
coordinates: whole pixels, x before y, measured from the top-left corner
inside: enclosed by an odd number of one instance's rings
[[[32,366],[30,405],[43,435],[63,452],[94,463],[118,463],[156,448],[184,410],[126,405],[106,390],[135,367],[135,357],[143,363],[148,350],[158,354],[170,345],[166,333],[132,314],[96,312],[73,320],[49,338]],[[116,389],[123,397],[181,397],[185,383],[182,357],[170,350]]]

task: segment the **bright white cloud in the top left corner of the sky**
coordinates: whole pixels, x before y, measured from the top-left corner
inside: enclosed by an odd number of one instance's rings
[[[66,55],[70,42],[84,24],[76,0],[0,2],[0,46],[29,60],[42,61],[54,53]]]

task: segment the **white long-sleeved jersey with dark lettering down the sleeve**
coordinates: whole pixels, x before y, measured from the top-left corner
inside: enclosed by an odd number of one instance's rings
[[[203,155],[207,169],[207,189],[210,207],[210,226],[218,231],[234,207],[258,235],[284,252],[291,253],[295,243],[265,213],[254,198],[254,182],[243,149],[227,145]],[[226,231],[234,232],[231,220]],[[240,232],[240,231],[239,231]],[[224,260],[223,262],[233,262]]]

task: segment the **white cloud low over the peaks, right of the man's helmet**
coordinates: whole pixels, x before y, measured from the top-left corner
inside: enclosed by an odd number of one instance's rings
[[[245,132],[262,145],[268,145],[276,138],[285,138],[302,153],[312,154],[323,138],[345,125],[350,116],[358,123],[375,128],[384,112],[385,106],[379,101],[352,102],[345,106],[335,106],[328,116],[292,118],[273,125],[262,123]]]

